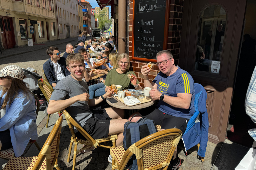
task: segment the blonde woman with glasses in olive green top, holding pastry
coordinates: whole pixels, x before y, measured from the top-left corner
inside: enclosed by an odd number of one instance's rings
[[[117,62],[119,64],[119,68],[114,68],[110,70],[107,74],[106,80],[105,80],[105,91],[110,88],[109,86],[111,84],[115,85],[121,85],[122,90],[124,89],[141,89],[140,83],[135,76],[135,73],[133,71],[129,70],[130,67],[130,59],[128,54],[123,53],[120,54],[117,58]],[[128,78],[128,74],[132,75],[132,79]]]

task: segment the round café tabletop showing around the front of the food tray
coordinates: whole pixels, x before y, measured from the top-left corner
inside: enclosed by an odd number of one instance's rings
[[[112,97],[112,96],[111,96]],[[108,98],[111,98],[111,97],[108,97]],[[126,106],[125,104],[123,104],[120,100],[116,99],[115,97],[113,97],[114,99],[117,100],[116,103],[111,103],[107,98],[107,103],[112,106],[112,107],[115,107],[115,108],[119,108],[119,109],[126,109],[126,110],[137,110],[137,109],[143,109],[143,108],[146,108],[146,107],[149,107],[151,105],[154,104],[154,101],[150,101],[150,102],[147,102],[147,103],[141,103],[141,104],[138,104],[138,105],[134,105],[134,106]]]

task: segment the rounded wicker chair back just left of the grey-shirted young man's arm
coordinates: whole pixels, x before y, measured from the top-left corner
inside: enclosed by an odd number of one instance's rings
[[[47,108],[48,108],[48,104],[50,101],[50,98],[52,96],[52,92],[53,92],[53,88],[52,86],[49,84],[48,81],[44,80],[44,79],[39,79],[37,81],[39,88],[41,89],[44,97],[47,100],[47,104],[46,104],[46,108],[45,108],[45,113],[47,114]],[[61,112],[58,112],[59,116],[61,116]],[[48,123],[49,123],[49,119],[50,119],[50,115],[48,114],[48,118],[47,118],[47,123],[46,123],[46,128],[48,128]]]

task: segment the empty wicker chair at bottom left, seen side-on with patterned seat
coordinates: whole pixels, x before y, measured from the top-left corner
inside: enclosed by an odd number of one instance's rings
[[[62,120],[63,117],[59,117],[38,156],[12,158],[3,170],[61,170],[58,154]]]

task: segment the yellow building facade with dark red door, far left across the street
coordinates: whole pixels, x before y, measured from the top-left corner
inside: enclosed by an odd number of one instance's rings
[[[0,29],[8,48],[57,40],[55,0],[0,0]]]

